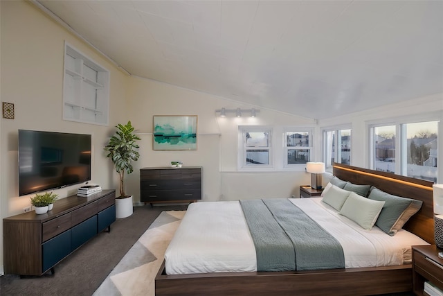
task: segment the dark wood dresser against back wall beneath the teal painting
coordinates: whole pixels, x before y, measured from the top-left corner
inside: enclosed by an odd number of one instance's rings
[[[195,202],[201,200],[201,167],[140,169],[141,202]]]

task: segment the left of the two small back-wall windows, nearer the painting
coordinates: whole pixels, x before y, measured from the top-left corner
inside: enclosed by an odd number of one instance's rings
[[[271,128],[243,127],[241,168],[272,167]]]

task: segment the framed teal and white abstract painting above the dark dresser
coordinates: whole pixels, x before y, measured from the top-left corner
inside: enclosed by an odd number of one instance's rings
[[[197,115],[154,115],[154,150],[197,150]]]

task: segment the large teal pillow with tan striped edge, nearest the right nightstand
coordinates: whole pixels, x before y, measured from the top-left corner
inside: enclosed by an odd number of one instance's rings
[[[375,225],[390,236],[394,236],[408,222],[409,218],[419,211],[423,204],[421,200],[401,198],[375,187],[371,189],[368,198],[385,202]]]

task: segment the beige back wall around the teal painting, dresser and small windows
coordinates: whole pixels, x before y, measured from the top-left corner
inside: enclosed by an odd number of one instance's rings
[[[238,173],[237,143],[239,125],[314,126],[312,119],[263,109],[255,118],[221,118],[215,114],[215,110],[221,107],[251,109],[251,106],[144,78],[129,79],[128,89],[129,118],[142,139],[141,158],[134,164],[135,173],[127,176],[128,188],[136,202],[140,201],[139,168],[168,166],[172,160],[180,160],[185,166],[203,167],[202,200],[205,201],[290,197],[298,194],[300,184],[309,183],[309,174],[304,171],[288,172],[275,168],[273,173]],[[197,115],[197,150],[152,150],[150,133],[154,115]],[[282,130],[275,130],[275,134],[281,137]],[[277,145],[280,143],[275,141]],[[271,186],[276,182],[280,186]]]

